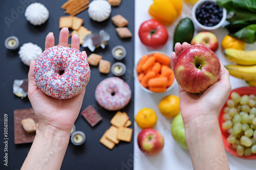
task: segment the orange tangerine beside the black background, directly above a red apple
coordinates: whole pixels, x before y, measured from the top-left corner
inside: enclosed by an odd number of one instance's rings
[[[137,113],[135,121],[141,129],[153,128],[157,124],[157,114],[153,109],[143,108]]]

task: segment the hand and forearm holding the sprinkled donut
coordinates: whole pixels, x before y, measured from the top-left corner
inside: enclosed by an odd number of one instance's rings
[[[59,45],[68,46],[68,28],[59,34]],[[54,36],[46,37],[45,48],[54,46]],[[71,47],[79,50],[78,35],[72,36]],[[87,57],[86,52],[82,52]],[[43,93],[34,79],[34,64],[29,70],[28,97],[38,119],[38,128],[22,169],[60,169],[68,147],[70,132],[79,114],[85,88],[74,98],[59,100]]]

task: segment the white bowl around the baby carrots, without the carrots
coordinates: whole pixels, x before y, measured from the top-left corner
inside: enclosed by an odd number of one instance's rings
[[[161,53],[161,54],[163,54],[163,55],[165,55],[165,56],[169,56],[169,55],[167,55],[166,53],[159,52],[159,51],[152,51],[152,52],[149,52],[149,53],[147,53],[147,54],[145,54],[145,55],[154,54],[154,53]],[[140,59],[141,59],[141,58],[140,58]],[[139,61],[140,61],[140,59],[139,59]],[[134,71],[133,71],[133,72],[134,72],[135,81],[139,84],[139,86],[140,86],[144,91],[146,91],[146,92],[148,92],[148,93],[152,93],[152,94],[158,93],[158,92],[153,92],[153,91],[151,91],[151,90],[149,90],[149,89],[147,89],[147,88],[145,88],[145,87],[143,87],[143,86],[141,85],[141,83],[140,83],[140,81],[139,81],[139,79],[138,79],[138,73],[137,73],[137,65],[138,65],[139,61],[136,63],[136,65],[135,65],[135,67],[134,67]],[[171,65],[169,65],[169,67],[172,68]],[[169,91],[170,89],[172,89],[172,88],[175,86],[175,84],[176,84],[176,79],[174,78],[173,84],[172,84],[170,87],[168,87],[164,92]],[[159,93],[164,93],[164,92],[159,92]]]

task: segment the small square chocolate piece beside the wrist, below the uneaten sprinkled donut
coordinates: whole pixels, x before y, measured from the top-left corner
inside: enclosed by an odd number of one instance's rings
[[[81,114],[92,127],[94,127],[102,119],[100,114],[94,110],[92,105],[89,105],[86,109],[84,109]]]

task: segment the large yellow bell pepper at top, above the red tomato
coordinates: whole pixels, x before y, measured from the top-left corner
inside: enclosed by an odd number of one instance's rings
[[[148,13],[163,25],[171,25],[182,12],[181,0],[154,0]]]

